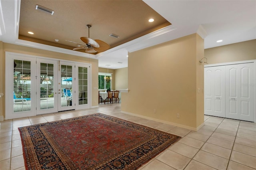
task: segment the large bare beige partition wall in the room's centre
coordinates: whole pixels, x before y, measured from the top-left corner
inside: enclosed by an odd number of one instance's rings
[[[122,111],[191,129],[200,126],[204,96],[197,89],[203,88],[204,69],[198,61],[203,44],[192,34],[129,53],[129,92],[122,93]]]

